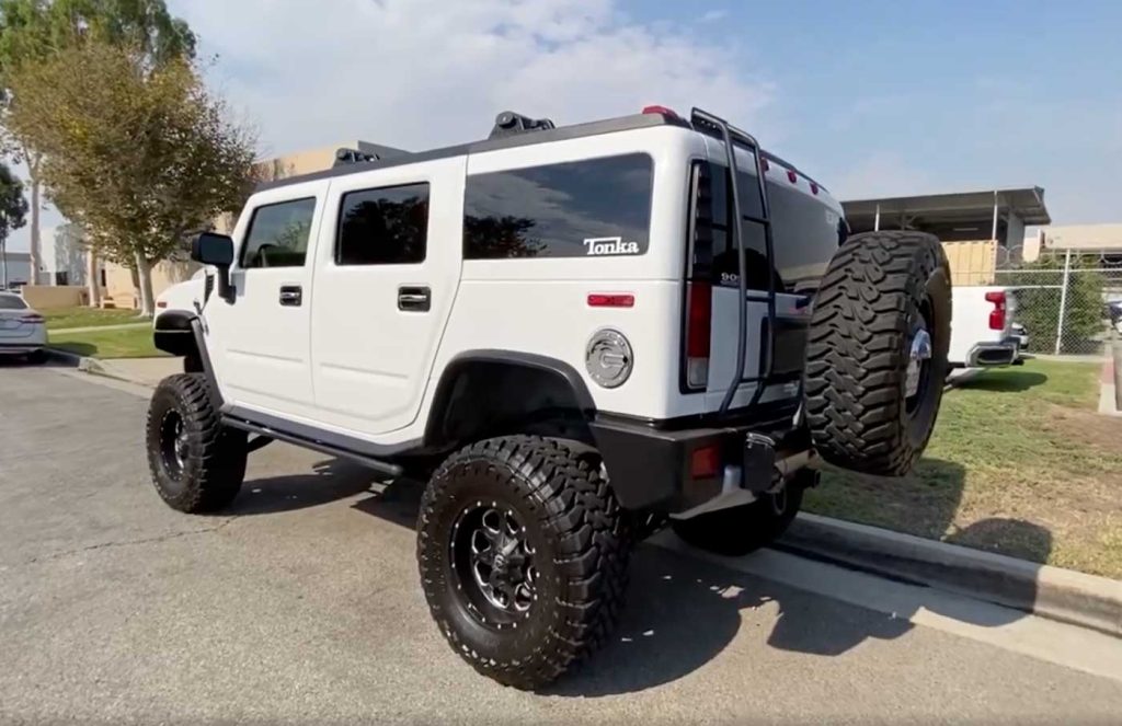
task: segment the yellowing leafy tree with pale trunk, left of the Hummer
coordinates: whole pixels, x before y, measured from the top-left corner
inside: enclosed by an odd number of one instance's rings
[[[43,153],[52,200],[99,252],[137,272],[144,314],[151,266],[240,205],[255,153],[191,62],[148,61],[140,47],[89,42],[8,77],[18,100],[8,122]]]

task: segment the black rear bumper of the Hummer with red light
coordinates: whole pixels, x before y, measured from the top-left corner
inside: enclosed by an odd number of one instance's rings
[[[664,430],[620,417],[590,425],[627,509],[687,518],[748,504],[815,462],[809,435],[790,420],[778,431],[749,424]]]

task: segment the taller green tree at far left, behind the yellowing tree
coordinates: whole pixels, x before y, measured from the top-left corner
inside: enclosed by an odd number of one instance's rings
[[[7,77],[27,64],[40,63],[58,50],[93,40],[138,48],[150,66],[173,58],[193,58],[195,36],[173,17],[164,0],[0,0],[0,88],[13,101]],[[43,150],[27,137],[11,132],[4,147],[27,164],[31,192],[31,282],[38,282],[43,208]]]

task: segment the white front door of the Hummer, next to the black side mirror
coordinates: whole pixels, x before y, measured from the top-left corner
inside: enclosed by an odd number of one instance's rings
[[[209,346],[218,348],[218,379],[231,404],[286,417],[313,413],[311,268],[325,189],[279,187],[255,196],[256,206],[239,220],[234,301],[211,295],[206,302]]]

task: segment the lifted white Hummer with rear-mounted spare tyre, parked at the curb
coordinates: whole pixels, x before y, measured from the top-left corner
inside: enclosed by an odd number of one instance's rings
[[[847,239],[825,187],[699,110],[341,150],[192,254],[217,272],[155,330],[186,361],[148,414],[163,498],[227,506],[272,440],[427,478],[432,615],[518,688],[605,641],[656,524],[746,552],[820,458],[905,472],[947,366],[938,240]]]

